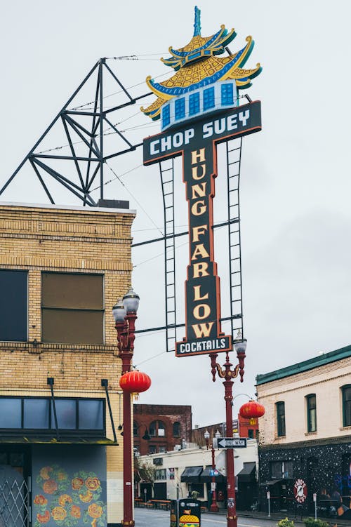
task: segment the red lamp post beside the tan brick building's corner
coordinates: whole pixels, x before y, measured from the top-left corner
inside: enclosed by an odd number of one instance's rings
[[[135,340],[135,320],[139,296],[130,288],[112,308],[117,329],[117,345],[122,360],[122,375],[131,371]],[[131,436],[131,392],[123,391],[123,520],[122,526],[135,525],[133,519],[133,473]]]

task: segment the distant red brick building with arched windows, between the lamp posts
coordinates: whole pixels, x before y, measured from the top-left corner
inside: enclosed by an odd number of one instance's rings
[[[191,406],[134,404],[133,410],[134,448],[140,455],[173,451],[191,441]],[[143,439],[145,432],[150,439]]]

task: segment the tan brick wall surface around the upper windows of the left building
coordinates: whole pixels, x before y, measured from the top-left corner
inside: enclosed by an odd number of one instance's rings
[[[131,211],[92,208],[44,208],[0,205],[0,269],[28,271],[28,342],[0,342],[0,396],[49,396],[47,377],[55,378],[55,394],[104,397],[107,378],[115,426],[119,415],[119,376],[112,305],[131,284]],[[105,344],[41,343],[41,272],[104,274]],[[36,342],[35,342],[36,341]],[[110,415],[107,436],[113,439]],[[118,432],[117,432],[118,433]],[[121,521],[123,437],[107,447],[108,521]],[[102,447],[105,448],[105,447]],[[110,483],[109,483],[110,481]]]

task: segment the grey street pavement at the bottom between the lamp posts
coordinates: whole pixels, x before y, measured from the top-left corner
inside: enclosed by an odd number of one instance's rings
[[[157,509],[135,509],[136,527],[166,527],[169,526],[169,511]],[[227,519],[225,514],[201,514],[201,527],[226,526]],[[275,527],[276,520],[266,520],[258,518],[239,518],[238,527]]]

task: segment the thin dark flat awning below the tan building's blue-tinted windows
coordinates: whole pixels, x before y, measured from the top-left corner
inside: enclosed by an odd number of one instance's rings
[[[103,436],[61,436],[60,441],[55,436],[2,436],[1,444],[41,444],[41,445],[118,445],[117,441]]]

